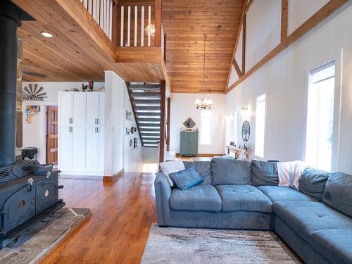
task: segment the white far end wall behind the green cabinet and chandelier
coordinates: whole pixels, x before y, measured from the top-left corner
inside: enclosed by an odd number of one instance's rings
[[[172,94],[170,110],[170,147],[176,153],[180,152],[180,129],[183,122],[192,118],[199,127],[199,110],[194,102],[201,99],[202,94]],[[199,146],[199,153],[220,154],[224,153],[224,128],[225,128],[225,95],[205,94],[206,99],[213,101],[212,144]],[[194,128],[195,128],[194,127]]]

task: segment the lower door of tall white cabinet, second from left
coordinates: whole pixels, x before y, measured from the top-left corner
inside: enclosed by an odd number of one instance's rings
[[[85,169],[85,137],[84,127],[72,127],[72,163],[74,171]],[[87,153],[89,155],[90,153]]]

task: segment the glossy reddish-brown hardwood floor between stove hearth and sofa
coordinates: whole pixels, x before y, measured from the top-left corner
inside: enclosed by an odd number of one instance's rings
[[[151,173],[125,172],[113,183],[61,179],[66,206],[90,208],[92,217],[44,263],[139,263],[157,221]]]

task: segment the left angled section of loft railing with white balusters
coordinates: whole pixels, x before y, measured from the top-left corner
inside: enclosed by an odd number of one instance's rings
[[[113,39],[113,0],[80,0],[109,39]]]

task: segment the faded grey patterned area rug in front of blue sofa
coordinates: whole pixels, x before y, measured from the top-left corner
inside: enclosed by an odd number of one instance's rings
[[[300,263],[273,232],[158,227],[142,257],[149,263]]]

